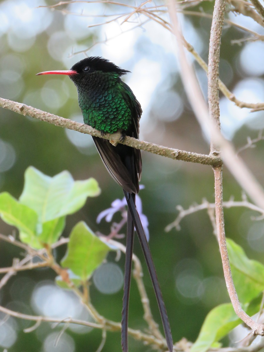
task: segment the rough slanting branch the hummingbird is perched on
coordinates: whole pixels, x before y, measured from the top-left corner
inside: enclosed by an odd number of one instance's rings
[[[21,104],[12,100],[0,98],[0,106],[5,109],[14,111],[20,115],[27,115],[33,117],[34,119],[49,122],[50,124],[56,126],[68,128],[69,130],[74,130],[81,133],[90,134],[91,136],[105,138],[114,141],[115,143],[126,144],[133,148],[145,150],[147,152],[165,156],[174,160],[182,160],[212,166],[222,164],[222,160],[219,155],[215,155],[214,153],[212,153],[211,155],[204,155],[199,153],[187,152],[183,150],[164,147],[154,143],[144,142],[142,140],[128,136],[126,136],[124,141],[121,142],[119,140],[120,133],[106,133],[102,137],[101,132],[95,130],[91,126],[80,124],[76,121],[71,121],[69,119],[64,119],[63,117],[53,115],[48,112],[33,108],[32,106]]]

